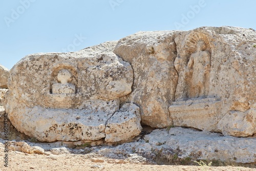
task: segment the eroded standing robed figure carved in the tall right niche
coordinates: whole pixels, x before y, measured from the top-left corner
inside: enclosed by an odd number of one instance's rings
[[[192,72],[189,98],[204,97],[209,91],[209,73],[211,66],[211,54],[205,50],[204,41],[199,41],[197,50],[191,54],[187,63],[188,72]]]

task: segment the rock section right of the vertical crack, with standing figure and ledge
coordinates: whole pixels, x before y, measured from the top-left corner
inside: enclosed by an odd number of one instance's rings
[[[249,110],[256,103],[256,76],[251,74],[256,66],[256,32],[202,27],[175,37],[179,79],[169,107],[174,125],[233,136],[255,134],[255,120],[243,118],[256,114]]]

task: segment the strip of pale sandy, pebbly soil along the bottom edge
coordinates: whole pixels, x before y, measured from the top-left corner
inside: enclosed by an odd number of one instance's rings
[[[4,155],[3,150],[0,152]],[[116,163],[115,163],[116,162]],[[22,152],[9,152],[9,167],[4,167],[3,162],[0,170],[225,170],[225,171],[242,171],[256,170],[256,168],[246,167],[208,167],[208,166],[189,166],[189,165],[156,165],[141,163],[118,163],[121,160],[108,158],[92,158],[81,154],[61,154],[61,155],[37,155],[25,154]]]

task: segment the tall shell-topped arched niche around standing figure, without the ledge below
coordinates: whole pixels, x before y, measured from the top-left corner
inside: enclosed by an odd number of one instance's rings
[[[179,74],[176,99],[208,96],[211,48],[205,34],[188,35],[174,65]]]

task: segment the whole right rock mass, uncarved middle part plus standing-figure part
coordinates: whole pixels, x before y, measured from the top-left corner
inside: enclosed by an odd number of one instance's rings
[[[231,133],[236,116],[229,126],[219,121],[231,111],[251,109],[255,115],[255,46],[252,29],[202,27],[139,32],[120,39],[114,53],[134,69],[133,92],[126,102],[140,107],[143,124],[249,136],[256,133],[254,120],[243,120],[236,134]]]

